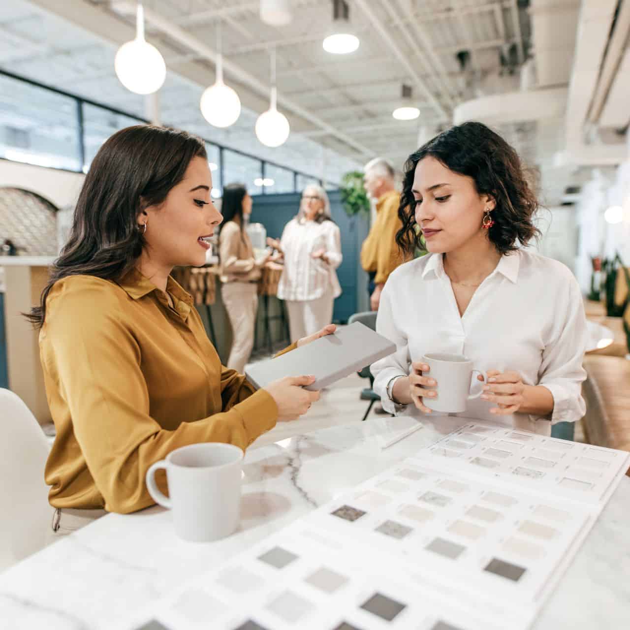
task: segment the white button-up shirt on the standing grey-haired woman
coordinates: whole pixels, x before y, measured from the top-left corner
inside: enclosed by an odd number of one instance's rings
[[[341,265],[341,232],[332,221],[291,219],[282,232],[280,247],[284,251],[284,270],[278,284],[281,300],[316,300],[331,291],[341,295],[336,268]],[[328,263],[313,258],[323,249]]]

